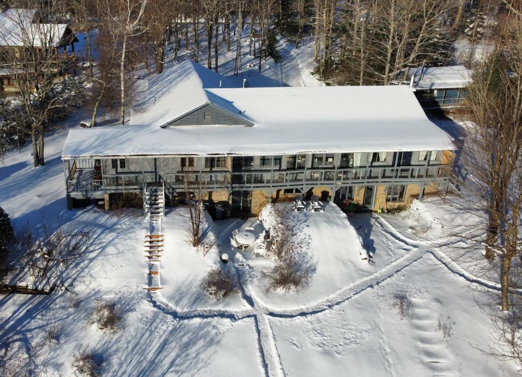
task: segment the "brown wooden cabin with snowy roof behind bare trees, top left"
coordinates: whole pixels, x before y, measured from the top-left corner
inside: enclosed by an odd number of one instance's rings
[[[32,69],[27,66],[32,61],[22,56],[34,53],[38,60],[42,49],[54,50],[57,77],[65,75],[74,60],[75,42],[78,39],[67,24],[42,22],[35,9],[10,8],[0,13],[0,91],[17,92],[16,75],[30,74]]]

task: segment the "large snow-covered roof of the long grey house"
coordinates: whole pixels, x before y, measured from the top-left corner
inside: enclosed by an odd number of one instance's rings
[[[221,80],[221,88],[219,87]],[[173,84],[175,82],[175,84]],[[63,157],[280,155],[454,149],[408,86],[224,88],[193,62],[165,69],[138,94],[129,126],[73,129]],[[160,127],[211,102],[254,126]]]

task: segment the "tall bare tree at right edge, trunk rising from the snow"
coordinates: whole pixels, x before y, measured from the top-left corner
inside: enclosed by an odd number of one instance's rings
[[[520,9],[521,5],[518,5]],[[469,85],[469,112],[465,148],[455,179],[466,192],[448,202],[479,218],[467,226],[468,251],[483,251],[476,258],[484,269],[499,268],[502,310],[509,309],[509,294],[516,288],[512,263],[522,255],[522,17],[509,11],[501,25],[497,49],[473,75]],[[460,227],[459,229],[465,229]]]

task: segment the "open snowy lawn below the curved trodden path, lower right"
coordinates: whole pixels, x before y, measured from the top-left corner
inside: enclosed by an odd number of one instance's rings
[[[401,318],[393,297],[403,287],[412,307]],[[512,363],[473,348],[489,341],[480,303],[490,297],[472,288],[426,254],[334,308],[272,318],[282,367],[289,375],[515,375]],[[439,315],[448,337],[437,329]]]

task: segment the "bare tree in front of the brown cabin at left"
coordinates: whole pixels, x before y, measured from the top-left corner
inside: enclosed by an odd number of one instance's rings
[[[66,36],[62,28],[53,23],[33,22],[35,17],[49,17],[58,13],[54,2],[42,3],[25,0],[25,9],[13,9],[8,17],[10,27],[0,29],[4,47],[0,57],[4,71],[18,88],[20,102],[19,119],[30,127],[34,166],[43,166],[44,137],[53,114],[63,110],[67,91],[57,91],[57,78],[74,64],[74,58],[59,53],[72,34]],[[34,14],[33,10],[35,9]]]

